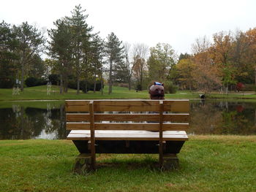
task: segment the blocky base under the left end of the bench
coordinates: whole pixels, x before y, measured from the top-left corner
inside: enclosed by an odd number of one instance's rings
[[[90,153],[80,153],[77,158],[75,158],[75,166],[73,171],[78,174],[85,174],[91,171],[91,154]]]

